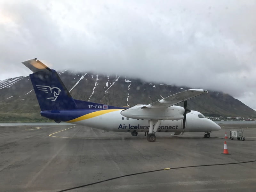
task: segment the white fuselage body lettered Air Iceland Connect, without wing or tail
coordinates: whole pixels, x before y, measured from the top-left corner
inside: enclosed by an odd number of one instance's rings
[[[149,122],[147,119],[132,119],[120,114],[120,110],[115,110],[106,114],[72,122],[114,132],[147,132],[149,131]],[[180,120],[162,120],[158,126],[157,132],[211,132],[220,130],[220,126],[207,118],[199,118],[202,115],[197,111],[191,111],[187,114],[185,131],[183,131],[182,119]],[[153,122],[154,123],[154,122]]]

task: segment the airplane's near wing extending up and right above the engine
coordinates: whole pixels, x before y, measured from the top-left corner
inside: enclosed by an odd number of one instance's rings
[[[150,103],[142,108],[167,108],[172,105],[176,105],[180,102],[192,99],[198,95],[201,95],[203,93],[208,93],[208,91],[204,89],[188,89],[186,91],[182,91],[179,93],[175,93],[173,95],[170,95],[164,99],[158,100],[154,103]]]

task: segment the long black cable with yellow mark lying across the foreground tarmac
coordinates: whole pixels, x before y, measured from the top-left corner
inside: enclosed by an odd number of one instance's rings
[[[153,171],[139,172],[139,173],[133,173],[133,174],[122,175],[122,176],[119,176],[119,177],[113,177],[113,178],[110,178],[110,179],[101,180],[101,181],[94,182],[94,183],[89,183],[89,184],[86,184],[86,185],[80,185],[80,186],[73,187],[73,188],[63,189],[63,190],[56,191],[56,192],[69,191],[69,190],[72,190],[72,189],[77,189],[77,188],[82,188],[82,187],[86,187],[86,186],[90,186],[90,185],[95,185],[95,184],[98,184],[98,183],[103,183],[103,182],[106,182],[106,181],[115,180],[115,179],[119,179],[119,178],[122,178],[122,177],[128,177],[128,176],[132,176],[132,175],[140,175],[140,174],[144,174],[144,173],[151,173],[151,172],[157,172],[157,171],[166,171],[166,170],[172,170],[172,169],[184,169],[184,168],[190,168],[190,167],[207,167],[207,166],[217,166],[217,165],[244,164],[244,163],[252,163],[252,162],[256,162],[256,160],[253,160],[253,161],[244,161],[244,162],[238,162],[238,163],[222,163],[222,164],[208,164],[208,165],[192,165],[192,166],[184,166],[184,167],[173,167],[173,168],[157,169],[157,170],[153,170]]]

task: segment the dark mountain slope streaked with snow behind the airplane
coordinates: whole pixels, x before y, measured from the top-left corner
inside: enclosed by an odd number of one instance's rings
[[[144,82],[121,76],[96,75],[93,73],[59,72],[60,78],[75,99],[88,100],[114,106],[149,104],[189,87]],[[196,87],[198,88],[198,87]],[[209,91],[209,90],[208,90]],[[182,106],[183,103],[180,103]],[[206,116],[256,117],[256,111],[232,96],[209,91],[188,101],[188,108]],[[29,76],[0,80],[1,120],[43,119]]]

